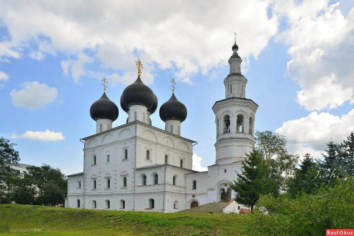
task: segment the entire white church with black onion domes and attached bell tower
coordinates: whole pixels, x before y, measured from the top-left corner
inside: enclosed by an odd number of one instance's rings
[[[196,142],[181,136],[187,108],[174,93],[159,110],[165,127],[152,125],[149,116],[156,111],[158,99],[141,81],[138,60],[138,77],[120,98],[120,106],[128,114],[125,124],[112,127],[119,110],[105,92],[91,105],[96,134],[81,139],[85,143],[84,172],[68,175],[65,207],[178,212],[220,203],[218,207],[225,213],[246,208],[233,201],[230,183],[240,173],[245,153],[255,144],[258,105],[245,98],[247,79],[241,74],[236,42],[232,50],[230,73],[224,79],[225,99],[212,107],[216,161],[208,171],[192,170]]]

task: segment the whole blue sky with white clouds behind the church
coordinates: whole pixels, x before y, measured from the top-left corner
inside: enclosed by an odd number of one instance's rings
[[[234,31],[246,98],[259,105],[257,130],[281,133],[290,152],[315,157],[330,138],[353,131],[352,1],[214,4],[152,2],[137,16],[129,3],[0,3],[0,136],[17,144],[23,163],[82,171],[79,138],[96,131],[89,109],[102,95],[100,80],[107,77],[119,105],[139,57],[159,107],[177,80],[188,109],[182,136],[198,141],[194,168],[203,170],[215,162],[211,107],[225,98]],[[119,109],[114,127],[127,118]],[[158,110],[150,118],[164,127]]]

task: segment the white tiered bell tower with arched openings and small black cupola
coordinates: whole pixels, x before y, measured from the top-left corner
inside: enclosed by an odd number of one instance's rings
[[[216,123],[216,164],[223,165],[242,160],[252,151],[255,142],[255,114],[258,105],[245,97],[247,79],[241,74],[242,59],[238,45],[228,63],[229,75],[224,79],[225,99],[215,102],[212,110]]]

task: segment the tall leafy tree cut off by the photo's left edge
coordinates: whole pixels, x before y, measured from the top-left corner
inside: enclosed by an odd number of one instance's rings
[[[19,152],[14,149],[16,144],[10,143],[10,140],[0,137],[0,202],[4,201],[7,186],[17,178],[11,164],[20,161]]]

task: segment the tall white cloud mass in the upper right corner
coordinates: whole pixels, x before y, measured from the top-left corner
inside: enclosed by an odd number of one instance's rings
[[[290,45],[285,74],[300,85],[298,103],[310,111],[354,103],[354,7],[343,16],[338,5],[321,0],[274,6],[290,26],[277,37]]]

